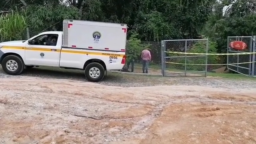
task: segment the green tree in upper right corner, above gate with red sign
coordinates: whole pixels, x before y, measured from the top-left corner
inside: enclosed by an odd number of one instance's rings
[[[224,6],[228,6],[225,12]],[[255,12],[256,3],[252,0],[216,2],[201,34],[216,41],[218,51],[224,52],[228,36],[252,36],[256,33]]]

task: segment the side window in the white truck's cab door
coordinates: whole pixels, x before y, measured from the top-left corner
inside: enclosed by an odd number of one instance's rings
[[[56,46],[58,34],[44,34],[32,40],[31,45]]]

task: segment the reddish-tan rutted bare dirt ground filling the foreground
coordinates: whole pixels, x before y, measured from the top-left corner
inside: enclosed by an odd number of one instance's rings
[[[0,144],[256,144],[256,89],[1,78]]]

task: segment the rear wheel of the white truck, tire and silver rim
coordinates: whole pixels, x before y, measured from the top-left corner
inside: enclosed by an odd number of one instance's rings
[[[103,66],[97,62],[88,64],[84,70],[84,74],[88,81],[99,82],[105,76]]]

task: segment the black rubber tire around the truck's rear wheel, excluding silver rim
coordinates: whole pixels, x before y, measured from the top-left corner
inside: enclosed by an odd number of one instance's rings
[[[90,76],[90,69],[93,67],[97,68],[100,72],[99,76],[96,78],[93,78],[92,76]],[[84,70],[84,75],[87,78],[87,80],[90,82],[99,82],[100,80],[102,80],[104,78],[105,70],[104,70],[103,66],[101,64],[99,64],[98,62],[92,62],[86,66],[86,68]]]

